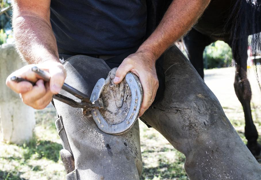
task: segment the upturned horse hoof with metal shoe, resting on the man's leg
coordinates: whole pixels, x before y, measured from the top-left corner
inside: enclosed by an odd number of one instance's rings
[[[112,69],[106,80],[100,79],[91,95],[103,101],[104,109],[92,109],[92,116],[100,130],[108,134],[128,131],[139,115],[142,87],[139,78],[128,73],[120,84],[114,84],[117,68]]]

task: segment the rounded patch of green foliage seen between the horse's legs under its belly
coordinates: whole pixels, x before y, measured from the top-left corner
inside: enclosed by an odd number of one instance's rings
[[[206,47],[203,58],[207,69],[229,67],[232,62],[232,51],[227,43],[216,41]]]

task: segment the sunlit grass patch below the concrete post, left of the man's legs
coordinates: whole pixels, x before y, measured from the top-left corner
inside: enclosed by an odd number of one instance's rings
[[[0,179],[64,179],[62,145],[55,128],[56,113],[49,106],[36,111],[33,138],[23,145],[0,142]]]

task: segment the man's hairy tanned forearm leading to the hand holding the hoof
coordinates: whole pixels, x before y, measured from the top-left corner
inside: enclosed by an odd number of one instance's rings
[[[140,46],[140,51],[153,53],[155,60],[183,36],[204,12],[210,0],[173,0],[162,21],[149,38]]]

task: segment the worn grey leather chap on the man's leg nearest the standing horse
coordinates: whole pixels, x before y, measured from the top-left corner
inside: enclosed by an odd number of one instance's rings
[[[218,99],[173,46],[160,62],[165,90],[141,119],[186,156],[191,179],[258,179],[261,168],[224,114]]]

